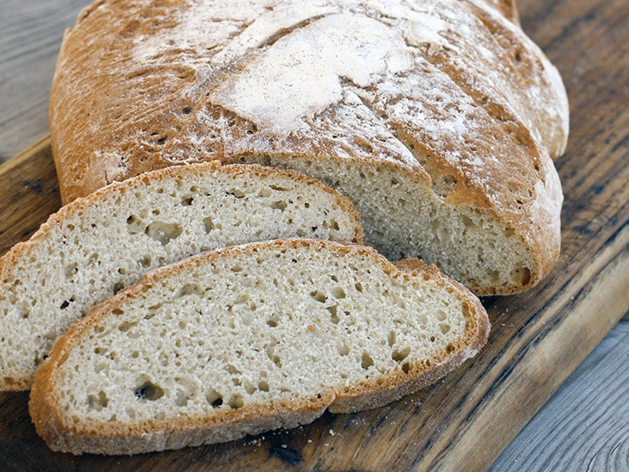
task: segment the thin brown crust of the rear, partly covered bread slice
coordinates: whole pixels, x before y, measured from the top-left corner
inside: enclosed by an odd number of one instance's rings
[[[184,166],[170,166],[161,168],[150,173],[144,173],[132,177],[125,182],[113,182],[108,186],[98,189],[94,193],[87,195],[86,197],[73,200],[69,204],[65,205],[56,213],[53,213],[48,217],[48,220],[44,222],[35,234],[31,236],[28,241],[17,243],[6,254],[0,257],[0,286],[2,281],[7,279],[14,267],[19,265],[19,261],[28,256],[30,249],[37,245],[39,241],[44,241],[46,238],[51,237],[53,228],[64,225],[64,221],[67,218],[72,218],[78,213],[81,213],[87,207],[94,207],[98,205],[99,201],[105,198],[110,198],[112,194],[123,193],[125,191],[142,191],[149,184],[154,184],[161,180],[170,179],[174,177],[185,177],[186,175],[202,175],[203,173],[211,173],[220,171],[227,175],[247,175],[252,178],[259,178],[262,176],[278,177],[282,180],[292,180],[299,182],[305,186],[312,186],[322,193],[331,195],[337,205],[348,215],[351,220],[351,225],[354,228],[355,236],[350,243],[365,244],[364,231],[360,225],[360,213],[355,209],[353,204],[344,197],[341,193],[330,188],[323,182],[316,180],[308,175],[304,175],[298,171],[290,169],[273,168],[268,166],[258,166],[257,164],[226,164],[222,165],[218,161],[205,161],[196,164],[186,164]],[[16,378],[16,377],[3,377],[0,376],[0,391],[19,391],[28,390],[30,384],[33,382],[31,376]]]

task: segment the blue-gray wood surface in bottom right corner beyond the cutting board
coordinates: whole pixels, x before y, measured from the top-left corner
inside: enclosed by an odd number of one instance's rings
[[[489,472],[629,471],[629,313]]]

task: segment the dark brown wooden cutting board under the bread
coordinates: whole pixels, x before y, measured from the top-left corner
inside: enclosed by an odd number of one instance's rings
[[[533,290],[483,300],[487,347],[384,408],[294,430],[134,457],[53,453],[28,394],[0,394],[1,471],[484,471],[629,310],[629,2],[529,0],[527,32],[558,65],[572,135],[557,162],[562,254]],[[60,206],[48,137],[0,166],[0,254]]]

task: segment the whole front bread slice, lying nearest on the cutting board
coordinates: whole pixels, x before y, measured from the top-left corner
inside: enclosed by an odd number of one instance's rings
[[[425,387],[486,342],[479,300],[370,247],[265,241],[150,272],[72,326],[30,392],[48,446],[134,454],[292,428]]]

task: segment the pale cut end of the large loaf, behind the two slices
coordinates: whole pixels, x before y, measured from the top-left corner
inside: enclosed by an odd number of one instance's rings
[[[511,295],[537,284],[559,256],[562,195],[551,164],[546,184],[521,214],[499,218],[473,202],[450,204],[429,177],[391,163],[362,159],[247,157],[267,166],[294,168],[321,179],[360,210],[366,240],[387,259],[420,257],[434,263],[475,295]]]

